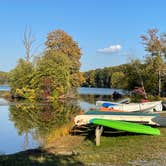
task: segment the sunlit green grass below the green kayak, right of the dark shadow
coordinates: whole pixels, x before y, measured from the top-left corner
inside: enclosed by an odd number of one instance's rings
[[[137,160],[163,160],[162,155],[166,154],[166,129],[161,129],[161,133],[161,136],[102,136],[99,147],[91,141],[86,141],[79,147],[78,158],[85,164],[111,163],[113,165],[130,165],[130,162]]]

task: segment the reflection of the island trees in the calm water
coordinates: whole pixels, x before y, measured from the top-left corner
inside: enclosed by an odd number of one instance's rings
[[[16,104],[10,106],[10,120],[14,122],[18,134],[25,135],[24,149],[27,149],[29,134],[43,145],[52,132],[58,137],[58,130],[63,131],[64,126],[65,132],[66,128],[70,129],[74,116],[80,110],[76,101]]]

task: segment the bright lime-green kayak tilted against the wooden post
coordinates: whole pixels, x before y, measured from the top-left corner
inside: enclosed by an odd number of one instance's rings
[[[90,123],[110,127],[116,130],[122,130],[122,131],[128,131],[140,134],[160,135],[159,129],[137,123],[124,122],[118,120],[97,119],[97,118],[91,119]]]

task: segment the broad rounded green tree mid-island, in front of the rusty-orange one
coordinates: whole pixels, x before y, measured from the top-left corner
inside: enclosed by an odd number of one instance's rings
[[[62,52],[46,51],[36,62],[31,85],[42,98],[67,93],[71,87],[68,57]]]

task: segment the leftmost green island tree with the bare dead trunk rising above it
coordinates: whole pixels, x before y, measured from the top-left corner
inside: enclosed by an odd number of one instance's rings
[[[35,38],[31,28],[26,27],[23,35],[23,44],[26,52],[26,60],[19,59],[17,66],[10,71],[10,86],[13,96],[21,98],[35,98],[35,91],[31,89],[30,81],[34,74],[33,64],[30,62],[32,57],[32,46]]]

